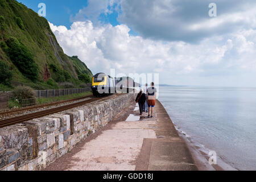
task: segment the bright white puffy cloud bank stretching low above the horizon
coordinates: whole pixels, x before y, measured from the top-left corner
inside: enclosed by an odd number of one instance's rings
[[[125,24],[94,26],[87,20],[70,29],[49,24],[64,52],[79,56],[93,73],[115,68],[117,73],[160,73],[160,83],[167,84],[236,85],[244,72],[248,77],[256,72],[252,29],[189,44],[131,36]]]

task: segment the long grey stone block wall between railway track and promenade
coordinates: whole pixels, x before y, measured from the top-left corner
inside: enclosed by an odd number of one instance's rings
[[[0,171],[46,168],[133,102],[123,94],[0,129]]]

